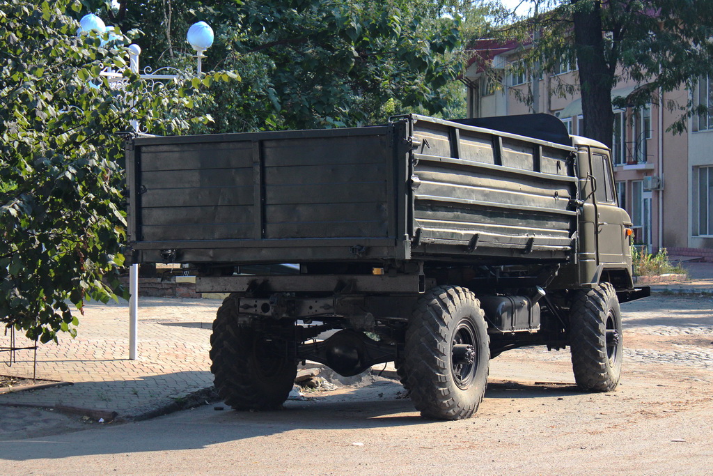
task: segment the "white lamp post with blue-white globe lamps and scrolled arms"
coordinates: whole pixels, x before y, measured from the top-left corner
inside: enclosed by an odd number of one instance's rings
[[[79,21],[79,24],[80,28],[77,31],[78,35],[86,34],[89,31],[96,30],[100,33],[109,32],[108,41],[117,38],[115,27],[106,26],[101,20],[101,18],[94,14],[88,14],[83,16],[82,19]],[[197,74],[200,76],[200,74],[202,73],[201,60],[204,58],[203,51],[210,48],[210,46],[213,44],[213,30],[207,23],[205,23],[205,21],[199,21],[198,23],[193,24],[190,29],[188,29],[188,35],[186,36],[186,38],[188,39],[188,43],[190,43],[190,46],[193,46],[193,49],[195,49],[196,51],[196,56],[198,59]],[[105,42],[102,41],[102,44],[104,43]],[[140,74],[140,70],[138,67],[138,59],[141,54],[140,46],[138,46],[137,44],[131,44],[128,46],[127,49],[129,54],[129,65],[131,71],[133,71],[135,74],[139,74],[143,79],[153,81],[152,86],[150,87],[153,87],[153,85],[156,84],[155,81],[178,78],[178,75],[176,74],[158,74],[159,71],[170,68],[160,68],[156,71],[153,71],[153,73],[151,72],[152,70],[150,68],[145,68],[144,74]],[[173,70],[175,71],[175,69]],[[101,75],[106,76],[111,83],[115,84],[114,87],[116,87],[116,85],[120,86],[122,84],[122,81],[124,80],[122,74],[116,73],[108,69],[102,71]],[[130,123],[133,130],[136,133],[139,133],[140,127],[138,119],[132,119]],[[138,346],[138,264],[131,265],[129,269],[129,293],[129,359],[136,360]]]

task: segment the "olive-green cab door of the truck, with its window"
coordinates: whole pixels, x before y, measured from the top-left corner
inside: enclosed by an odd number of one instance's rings
[[[597,263],[624,262],[624,225],[622,209],[617,206],[609,152],[592,148],[590,170],[594,177],[596,210]]]

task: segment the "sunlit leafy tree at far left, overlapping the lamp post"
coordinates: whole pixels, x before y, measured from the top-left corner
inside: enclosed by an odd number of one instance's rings
[[[185,130],[200,99],[179,83],[149,91],[126,69],[127,39],[77,35],[68,14],[80,9],[75,0],[0,1],[0,322],[43,343],[61,330],[76,335],[72,308],[87,298],[123,293],[115,133],[130,130],[130,118],[150,132]],[[123,87],[111,87],[105,68],[124,71]]]

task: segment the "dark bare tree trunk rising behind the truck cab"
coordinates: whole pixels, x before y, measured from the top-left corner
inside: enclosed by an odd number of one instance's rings
[[[614,130],[611,94],[615,78],[604,54],[602,5],[600,0],[570,0],[570,3],[587,7],[573,15],[584,116],[584,133],[578,134],[611,147]]]

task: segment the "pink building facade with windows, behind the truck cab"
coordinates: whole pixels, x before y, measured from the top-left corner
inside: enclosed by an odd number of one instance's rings
[[[493,49],[487,56],[493,74],[483,73],[474,62],[463,81],[468,86],[468,116],[511,116],[533,112],[560,118],[570,134],[583,135],[578,71],[568,61],[556,71],[533,79],[518,64],[515,44]],[[520,66],[520,67],[518,67]],[[491,70],[491,72],[493,71]],[[612,98],[626,98],[637,83],[621,82]],[[644,108],[627,107],[615,113],[612,161],[619,203],[632,217],[637,245],[650,252],[667,248],[670,255],[713,261],[713,78],[701,79],[696,91],[679,90],[660,95],[662,103],[711,106],[709,116],[689,120],[688,131],[674,135],[667,128],[679,111],[659,103]],[[533,98],[528,105],[525,98]]]

